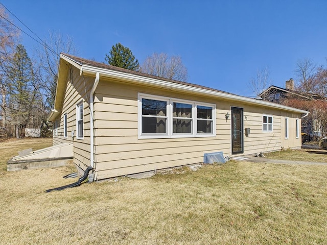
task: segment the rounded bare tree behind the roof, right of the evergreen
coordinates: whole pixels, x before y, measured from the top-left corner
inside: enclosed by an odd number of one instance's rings
[[[142,72],[150,75],[186,82],[188,69],[179,56],[168,57],[165,53],[148,56],[141,66]]]

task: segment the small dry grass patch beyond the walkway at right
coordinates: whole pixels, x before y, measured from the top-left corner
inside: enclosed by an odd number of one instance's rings
[[[310,162],[327,163],[326,150],[287,149],[284,151],[267,153],[265,154],[265,156],[269,159],[283,159],[283,160],[292,160],[292,161],[310,161]]]

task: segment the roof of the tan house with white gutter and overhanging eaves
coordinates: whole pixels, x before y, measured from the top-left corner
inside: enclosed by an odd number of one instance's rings
[[[99,73],[100,78],[106,77],[112,79],[119,79],[119,80],[124,80],[126,82],[132,82],[135,84],[157,86],[161,88],[181,91],[184,93],[199,94],[202,96],[214,97],[216,99],[218,98],[226,101],[237,101],[244,104],[265,106],[268,108],[280,109],[284,111],[292,111],[302,114],[309,113],[308,111],[299,110],[292,107],[287,107],[284,105],[275,104],[267,101],[259,101],[249,97],[228,93],[225,91],[201,86],[198,84],[192,84],[192,83],[186,83],[186,82],[180,82],[180,81],[170,80],[166,78],[156,77],[149,74],[144,74],[142,72],[127,70],[120,67],[107,65],[104,63],[91,61],[72,55],[60,54],[55,106],[48,118],[50,121],[55,120],[56,117],[61,113],[60,110],[62,108],[63,99],[64,99],[66,76],[67,76],[69,64],[77,67],[80,70],[80,73],[85,76],[86,75],[95,76],[97,73]]]

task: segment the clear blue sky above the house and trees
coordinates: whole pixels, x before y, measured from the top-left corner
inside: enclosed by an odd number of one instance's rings
[[[140,64],[154,52],[178,55],[188,82],[244,96],[254,95],[248,81],[265,66],[285,87],[299,59],[327,64],[324,0],[0,2],[41,38],[50,30],[73,37],[80,57],[104,62],[118,42]],[[41,48],[24,33],[21,43],[30,56]]]

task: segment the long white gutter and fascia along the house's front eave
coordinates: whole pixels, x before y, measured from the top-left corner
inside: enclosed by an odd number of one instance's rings
[[[258,101],[258,100],[254,100],[254,99],[251,99],[248,97],[243,97],[243,96],[239,96],[239,95],[235,95],[235,94],[228,94],[228,93],[223,93],[223,92],[219,92],[219,91],[213,91],[213,90],[208,90],[208,89],[204,89],[204,88],[188,86],[188,85],[184,85],[184,84],[162,81],[162,80],[154,79],[154,78],[142,77],[142,76],[137,76],[134,74],[128,74],[128,73],[116,71],[116,70],[108,70],[105,68],[99,68],[99,67],[94,67],[94,66],[90,66],[90,65],[82,65],[82,70],[83,70],[83,72],[87,72],[87,73],[91,73],[91,74],[96,74],[97,72],[99,72],[103,77],[123,79],[123,80],[129,81],[129,82],[134,82],[134,83],[138,83],[138,84],[155,85],[158,87],[170,88],[170,89],[181,90],[181,91],[189,91],[189,92],[197,93],[197,94],[201,94],[201,95],[207,95],[207,96],[212,96],[212,97],[216,97],[216,98],[218,97],[218,98],[224,99],[224,100],[243,102],[243,103],[251,104],[251,105],[263,105],[263,106],[266,106],[269,108],[275,108],[275,109],[278,108],[278,109],[297,112],[297,113],[301,113],[301,114],[308,113],[308,111],[299,110],[296,108],[283,106],[280,104],[274,104],[271,102]]]

